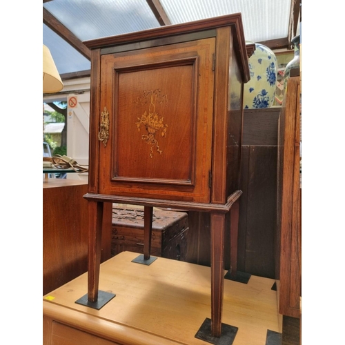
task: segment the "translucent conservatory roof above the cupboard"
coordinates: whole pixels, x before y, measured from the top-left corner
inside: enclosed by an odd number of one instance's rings
[[[43,0],[43,44],[50,49],[61,75],[90,70],[90,59],[66,41],[57,28],[67,30],[81,43],[241,12],[246,40],[274,45],[275,40],[288,42],[295,35],[291,29],[296,21],[292,15],[293,3],[292,0]],[[46,25],[46,14],[57,19],[59,24],[55,28]]]

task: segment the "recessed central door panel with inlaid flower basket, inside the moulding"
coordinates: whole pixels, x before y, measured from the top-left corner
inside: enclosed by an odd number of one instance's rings
[[[195,59],[191,62],[154,70],[116,71],[112,180],[195,184]],[[183,92],[182,85],[190,92]],[[175,119],[176,114],[186,116],[181,121]]]

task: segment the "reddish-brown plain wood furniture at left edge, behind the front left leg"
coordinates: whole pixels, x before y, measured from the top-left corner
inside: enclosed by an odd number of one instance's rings
[[[70,181],[43,187],[43,295],[88,270],[88,184]],[[102,262],[111,257],[110,204],[103,219]]]

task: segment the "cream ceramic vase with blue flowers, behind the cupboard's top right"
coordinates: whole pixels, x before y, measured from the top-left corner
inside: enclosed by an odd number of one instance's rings
[[[250,81],[244,84],[244,108],[270,108],[275,100],[277,58],[270,48],[255,43],[248,62]]]

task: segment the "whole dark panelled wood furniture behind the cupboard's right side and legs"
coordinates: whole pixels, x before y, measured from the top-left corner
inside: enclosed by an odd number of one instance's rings
[[[275,277],[277,130],[280,108],[244,110],[237,270]],[[188,262],[210,265],[210,215],[189,213]],[[226,228],[230,217],[226,216]],[[230,268],[230,233],[225,233]]]

